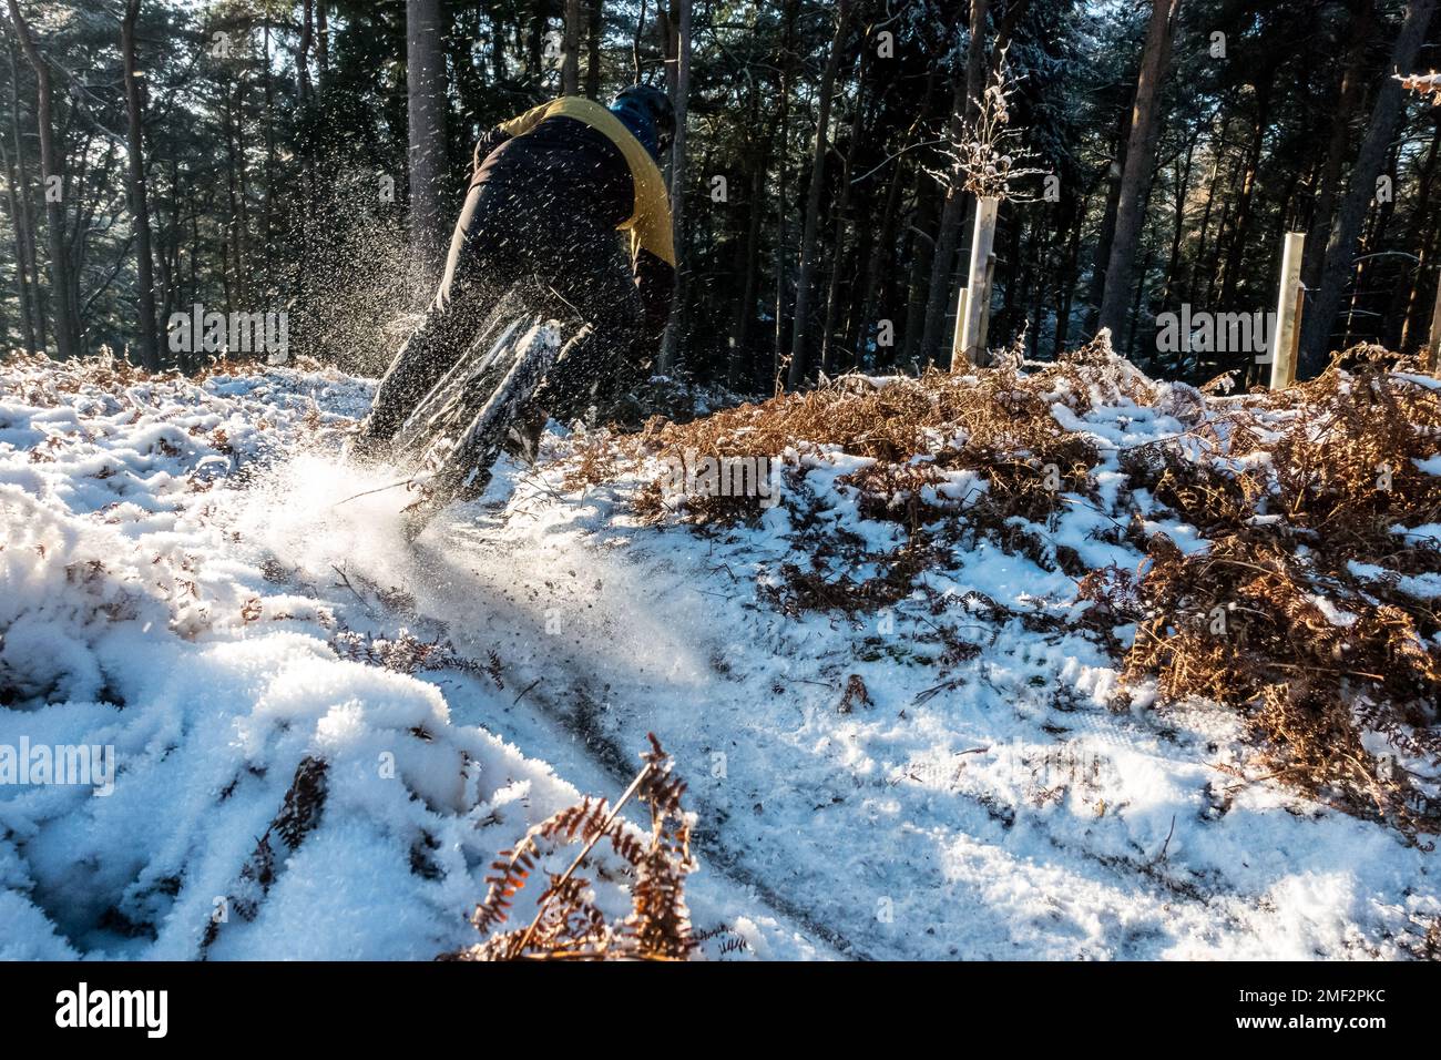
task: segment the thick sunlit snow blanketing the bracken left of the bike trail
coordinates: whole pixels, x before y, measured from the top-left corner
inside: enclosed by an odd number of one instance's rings
[[[496,852],[578,800],[403,672],[427,645],[352,626],[343,575],[287,584],[223,518],[367,397],[285,369],[6,366],[0,958],[429,959],[478,940],[465,917]],[[20,747],[110,748],[112,790],[6,777]],[[768,952],[774,920],[744,913],[712,952]]]

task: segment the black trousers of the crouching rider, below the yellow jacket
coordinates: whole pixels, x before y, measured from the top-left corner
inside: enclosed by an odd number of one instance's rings
[[[536,312],[594,326],[556,363],[533,415],[585,415],[644,378],[644,310],[620,237],[584,198],[548,190],[545,176],[491,167],[471,180],[440,290],[380,379],[363,441],[395,434],[517,286]]]

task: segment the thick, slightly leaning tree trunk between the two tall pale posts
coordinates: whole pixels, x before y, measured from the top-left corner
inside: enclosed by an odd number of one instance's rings
[[[1131,277],[1136,251],[1146,219],[1146,199],[1151,189],[1151,163],[1156,157],[1156,137],[1160,131],[1157,110],[1160,85],[1170,62],[1172,36],[1180,0],[1151,0],[1151,22],[1141,53],[1141,72],[1136,79],[1136,105],[1131,110],[1131,136],[1125,147],[1125,169],[1121,173],[1121,200],[1115,212],[1115,239],[1111,261],[1105,268],[1105,288],[1101,294],[1099,326],[1121,333],[1131,300]]]

